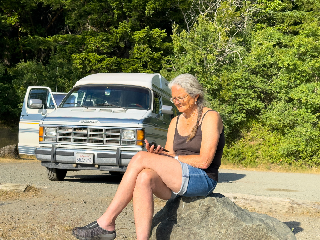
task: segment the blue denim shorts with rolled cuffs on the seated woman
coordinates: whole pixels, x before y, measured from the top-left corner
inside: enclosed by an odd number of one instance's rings
[[[179,196],[207,196],[213,192],[217,181],[209,178],[204,170],[182,162],[180,162],[180,165],[182,168],[181,188],[177,193],[171,191],[169,200]]]

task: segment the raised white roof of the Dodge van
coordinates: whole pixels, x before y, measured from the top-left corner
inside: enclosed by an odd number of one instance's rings
[[[85,76],[76,82],[74,87],[87,84],[124,84],[148,88],[160,88],[171,94],[168,80],[158,73],[98,73]]]

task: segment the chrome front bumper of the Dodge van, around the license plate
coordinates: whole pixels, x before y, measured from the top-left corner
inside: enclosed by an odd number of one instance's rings
[[[122,171],[125,171],[124,166],[128,166],[131,158],[136,155],[137,152],[138,151],[121,151],[121,148],[117,148],[116,150],[57,148],[55,145],[52,145],[52,148],[35,149],[36,159],[42,162],[41,165],[46,166],[46,163],[50,163],[50,165],[52,165],[53,163],[53,165],[50,167],[60,168],[58,166],[59,164],[62,164],[64,166],[62,169],[70,170],[76,170],[76,167],[74,167],[73,164],[76,164],[77,153],[90,153],[93,154],[93,164],[77,164],[81,166],[78,168],[78,170],[80,170],[80,168],[92,169],[92,167],[96,169],[94,165],[99,165],[100,168],[98,170],[104,170],[101,169],[102,166],[114,166],[115,169],[119,169],[119,167],[121,167],[120,169],[123,169]],[[117,170],[111,169],[110,171]]]

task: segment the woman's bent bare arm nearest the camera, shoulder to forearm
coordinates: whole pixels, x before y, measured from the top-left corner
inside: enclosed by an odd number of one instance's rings
[[[179,156],[179,161],[196,168],[207,169],[216,153],[222,129],[223,122],[219,113],[214,111],[208,112],[201,124],[202,141],[200,155]]]

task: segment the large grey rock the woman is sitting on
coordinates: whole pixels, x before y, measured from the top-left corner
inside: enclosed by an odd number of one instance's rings
[[[168,201],[152,220],[157,240],[296,240],[284,223],[249,212],[216,193]]]

